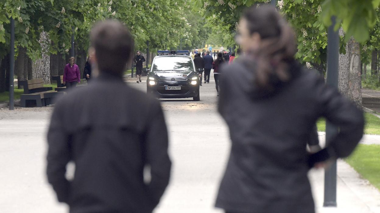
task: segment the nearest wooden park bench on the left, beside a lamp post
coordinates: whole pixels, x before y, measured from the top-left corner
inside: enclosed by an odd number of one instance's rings
[[[63,92],[53,91],[52,87],[43,87],[42,78],[23,80],[20,85],[24,86],[24,94],[21,94],[21,107],[27,107],[36,103],[37,107],[50,105],[57,96]]]

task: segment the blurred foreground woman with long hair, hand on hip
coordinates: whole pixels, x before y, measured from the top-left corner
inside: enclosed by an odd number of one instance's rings
[[[294,59],[293,30],[274,6],[246,10],[237,43],[244,56],[220,74],[218,112],[230,128],[232,146],[215,207],[313,213],[307,173],[350,155],[363,136],[363,112]],[[319,117],[339,132],[310,155],[306,145],[315,138]]]

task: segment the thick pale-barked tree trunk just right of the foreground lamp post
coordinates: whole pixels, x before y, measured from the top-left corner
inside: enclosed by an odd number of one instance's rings
[[[346,54],[339,55],[339,91],[362,107],[360,45],[351,37],[346,45]]]

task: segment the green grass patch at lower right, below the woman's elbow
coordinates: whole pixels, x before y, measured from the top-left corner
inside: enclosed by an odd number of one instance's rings
[[[359,144],[345,161],[380,190],[380,145]]]

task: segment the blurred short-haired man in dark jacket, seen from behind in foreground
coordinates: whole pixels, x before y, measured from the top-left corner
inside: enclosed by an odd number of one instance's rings
[[[90,43],[99,76],[55,103],[47,133],[47,179],[72,213],[151,213],[171,169],[160,102],[123,82],[134,44],[122,23],[95,24]],[[136,109],[139,113],[130,113]],[[72,180],[65,177],[70,161],[75,163]],[[144,181],[146,167],[150,181]]]

